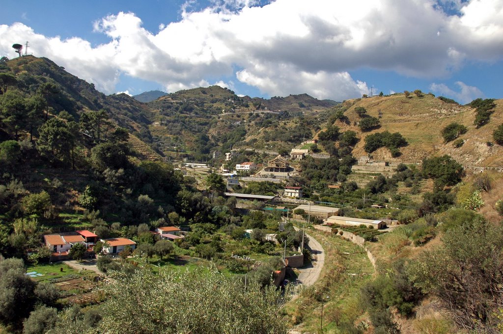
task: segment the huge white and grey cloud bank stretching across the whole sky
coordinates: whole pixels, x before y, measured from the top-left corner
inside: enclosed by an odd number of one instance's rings
[[[156,81],[168,91],[235,76],[270,95],[307,92],[345,99],[368,93],[348,72],[392,70],[414,77],[443,77],[467,60],[494,61],[503,55],[500,0],[214,0],[182,19],[143,28],[133,13],[110,15],[94,24],[110,42],[96,47],[74,37],[36,34],[23,24],[0,26],[0,53],[13,40],[32,42],[68,71],[115,91],[119,75]],[[237,68],[237,69],[236,69]]]

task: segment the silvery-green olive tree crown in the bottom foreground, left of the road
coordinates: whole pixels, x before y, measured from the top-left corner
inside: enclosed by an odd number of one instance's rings
[[[286,334],[284,296],[276,288],[226,277],[218,271],[174,273],[147,268],[119,275],[104,287],[99,332]],[[285,295],[288,295],[286,293]]]

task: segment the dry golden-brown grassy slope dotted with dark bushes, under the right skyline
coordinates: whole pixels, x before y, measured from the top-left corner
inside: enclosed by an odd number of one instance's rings
[[[337,121],[336,125],[341,128],[341,131],[353,130],[359,134],[361,141],[353,152],[355,157],[366,155],[363,146],[367,135],[389,131],[399,132],[409,145],[400,149],[402,155],[396,159],[391,158],[391,154],[385,148],[373,152],[375,159],[418,162],[431,155],[449,154],[464,166],[499,167],[503,165],[503,147],[497,144],[489,147],[486,144],[488,141],[492,142],[492,132],[503,123],[503,100],[501,99],[495,101],[496,108],[490,122],[480,129],[476,129],[473,125],[474,108],[446,103],[428,94],[423,97],[411,94],[408,98],[403,94],[373,96],[348,100],[345,103],[351,105],[345,113],[350,124]],[[381,127],[362,133],[356,125],[360,120],[355,113],[357,106],[365,107],[369,116],[378,117],[380,114]],[[445,144],[441,136],[442,129],[452,122],[463,124],[468,128],[468,132],[460,136],[465,140],[460,148],[455,148],[452,142]]]

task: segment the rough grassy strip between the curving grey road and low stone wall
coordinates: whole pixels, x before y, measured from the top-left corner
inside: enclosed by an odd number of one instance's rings
[[[318,281],[302,289],[285,311],[297,331],[318,332],[323,305],[323,330],[345,333],[345,325],[352,326],[355,320],[363,319],[358,302],[360,289],[372,279],[374,268],[366,252],[357,245],[315,230],[309,234],[323,245],[325,263]]]

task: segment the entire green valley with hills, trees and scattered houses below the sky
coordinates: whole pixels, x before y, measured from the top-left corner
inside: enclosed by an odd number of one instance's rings
[[[0,81],[0,332],[503,325],[503,100]]]

